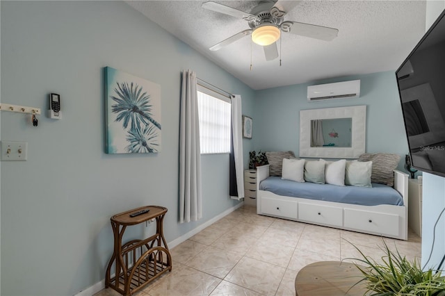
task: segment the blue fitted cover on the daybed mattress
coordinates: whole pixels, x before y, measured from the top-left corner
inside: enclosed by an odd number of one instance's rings
[[[318,199],[327,202],[362,206],[377,206],[378,204],[403,206],[403,197],[394,188],[378,183],[372,183],[372,186],[372,188],[368,188],[310,182],[298,183],[282,180],[280,176],[269,176],[261,181],[259,189],[273,192],[276,195]]]

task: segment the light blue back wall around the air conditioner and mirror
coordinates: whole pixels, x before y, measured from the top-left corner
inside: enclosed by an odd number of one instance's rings
[[[360,97],[307,101],[307,85],[360,79]],[[257,92],[254,112],[254,148],[263,151],[291,150],[298,156],[300,110],[366,105],[366,152],[401,155],[403,169],[408,147],[394,72],[316,81]]]

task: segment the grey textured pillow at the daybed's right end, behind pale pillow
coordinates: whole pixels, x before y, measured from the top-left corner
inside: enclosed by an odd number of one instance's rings
[[[372,183],[381,183],[387,186],[394,186],[394,170],[400,161],[401,156],[389,153],[365,153],[359,156],[358,161],[372,161],[373,170],[371,174]]]

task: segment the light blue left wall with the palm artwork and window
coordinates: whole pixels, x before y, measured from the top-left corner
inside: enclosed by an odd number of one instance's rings
[[[162,151],[104,154],[105,66],[161,85]],[[204,217],[178,221],[180,72],[243,97],[254,91],[120,1],[1,1],[1,102],[47,108],[62,120],[1,115],[1,140],[28,142],[28,161],[1,163],[1,295],[74,295],[104,279],[110,217],[166,206],[168,242],[232,208],[228,155],[203,156]],[[252,141],[245,140],[245,167]],[[127,238],[153,231],[129,229]]]

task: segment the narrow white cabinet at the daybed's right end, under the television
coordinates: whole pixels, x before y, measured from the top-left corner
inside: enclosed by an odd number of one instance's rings
[[[408,179],[408,227],[422,236],[422,181]]]

